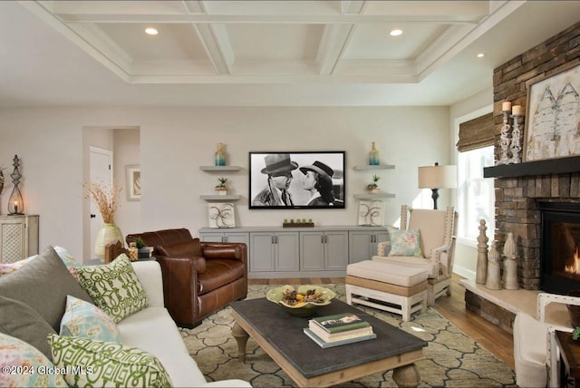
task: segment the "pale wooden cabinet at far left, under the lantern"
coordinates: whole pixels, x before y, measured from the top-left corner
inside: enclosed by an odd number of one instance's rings
[[[0,262],[38,254],[39,216],[0,216]]]

